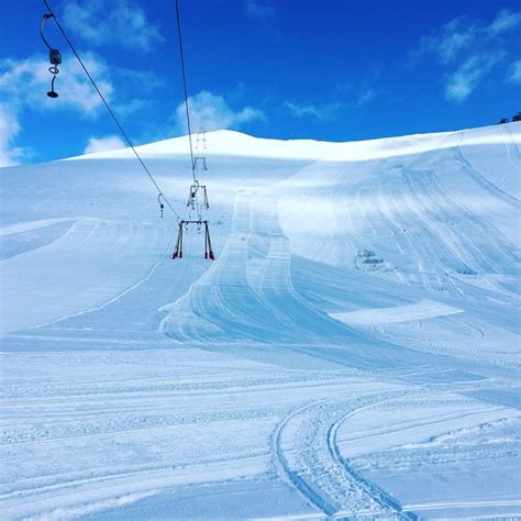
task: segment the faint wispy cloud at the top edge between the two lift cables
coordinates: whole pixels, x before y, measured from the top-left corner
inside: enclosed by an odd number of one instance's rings
[[[90,45],[119,44],[151,51],[165,38],[143,9],[130,0],[77,0],[64,9],[64,22]]]

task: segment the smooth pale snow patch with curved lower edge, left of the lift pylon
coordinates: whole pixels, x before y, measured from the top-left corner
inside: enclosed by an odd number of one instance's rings
[[[2,331],[101,309],[147,280],[167,252],[156,224],[79,219],[63,236],[1,262]]]

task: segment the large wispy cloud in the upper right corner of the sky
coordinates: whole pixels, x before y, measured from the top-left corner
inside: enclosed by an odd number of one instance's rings
[[[488,24],[466,16],[451,20],[420,38],[410,63],[434,57],[446,70],[446,99],[462,102],[508,56],[508,33],[520,25],[521,11],[510,10],[500,11]]]

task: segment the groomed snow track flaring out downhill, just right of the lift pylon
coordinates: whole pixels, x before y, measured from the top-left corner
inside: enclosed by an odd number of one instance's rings
[[[240,193],[232,233],[218,260],[188,293],[163,309],[162,330],[176,340],[295,342],[346,333],[295,291],[289,241],[270,193]]]

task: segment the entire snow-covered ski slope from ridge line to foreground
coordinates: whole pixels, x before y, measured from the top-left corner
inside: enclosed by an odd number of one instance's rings
[[[208,133],[214,262],[128,149],[3,168],[0,519],[521,518],[520,144]]]

